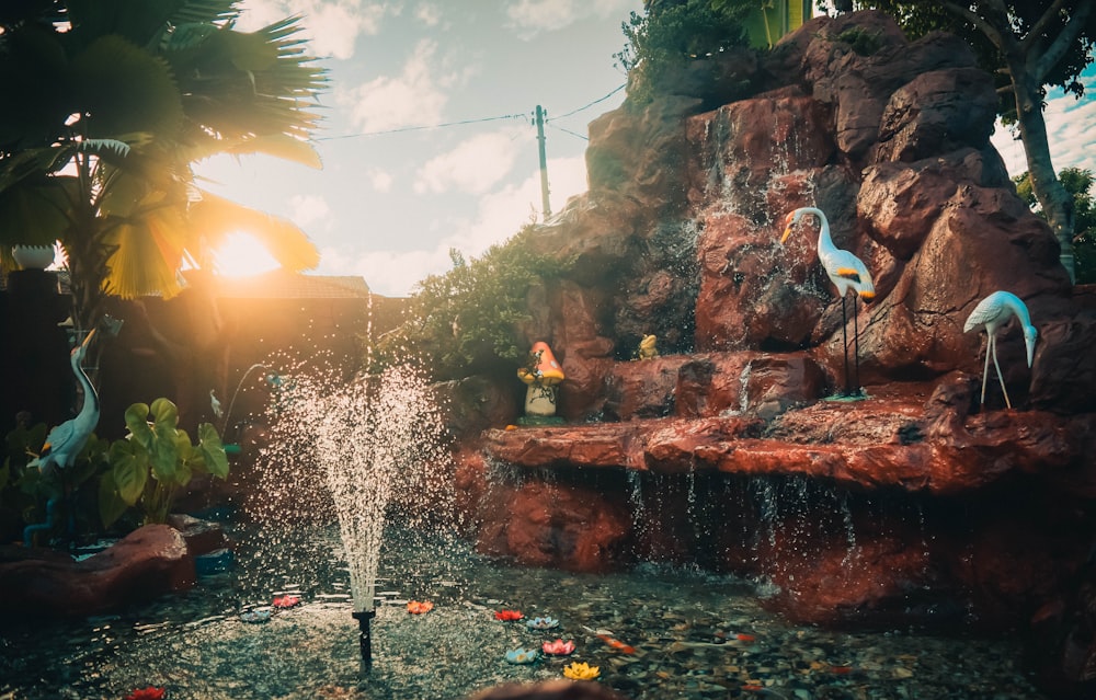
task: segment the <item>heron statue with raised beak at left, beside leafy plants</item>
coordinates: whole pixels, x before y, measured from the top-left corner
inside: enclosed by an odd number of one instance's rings
[[[72,374],[83,389],[83,404],[80,406],[80,412],[49,431],[46,444],[42,446],[42,454],[27,462],[27,467],[37,467],[44,474],[57,469],[70,469],[76,463],[80,450],[88,444],[88,438],[95,431],[95,426],[99,425],[99,393],[83,370],[83,358],[94,336],[95,330],[92,329],[83,342],[72,348],[69,356]],[[46,503],[46,523],[28,525],[23,529],[23,543],[26,547],[33,542],[35,532],[53,527],[56,508],[57,500],[50,498]]]

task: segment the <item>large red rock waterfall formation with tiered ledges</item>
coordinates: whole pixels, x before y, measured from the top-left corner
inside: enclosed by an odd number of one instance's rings
[[[575,261],[540,290],[536,329],[576,378],[574,423],[466,439],[528,471],[526,506],[484,525],[484,549],[574,566],[548,532],[597,521],[633,556],[763,576],[798,620],[1012,626],[1044,606],[1049,639],[1093,599],[1076,582],[1096,544],[1096,303],[990,144],[990,76],[956,37],[909,42],[876,12],[722,61],[593,122],[590,192],[540,227]],[[705,71],[721,79],[688,79]],[[876,284],[856,317],[865,401],[823,400],[853,323],[814,234],[778,243],[800,206]],[[996,289],[1040,332],[1030,369],[1019,332],[1000,335],[1012,411],[993,377],[978,406],[984,333],[962,330]],[[648,333],[661,356],[627,362]],[[583,507],[551,505],[538,470]],[[621,508],[630,533],[594,515]]]

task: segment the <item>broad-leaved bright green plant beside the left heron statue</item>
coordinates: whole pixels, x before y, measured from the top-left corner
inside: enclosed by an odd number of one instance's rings
[[[110,448],[111,468],[100,482],[100,514],[110,527],[136,506],[146,523],[163,523],[179,493],[196,474],[228,477],[228,457],[217,429],[198,426],[198,441],[178,427],[179,410],[168,399],[126,410],[126,437]],[[151,417],[151,420],[149,420]]]

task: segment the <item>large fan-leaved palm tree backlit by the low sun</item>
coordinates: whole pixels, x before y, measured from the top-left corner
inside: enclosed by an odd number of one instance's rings
[[[319,254],[288,221],[203,192],[192,165],[263,152],[320,167],[326,71],[299,18],[237,31],[240,0],[18,0],[0,9],[0,259],[59,241],[77,330],[107,295],[170,297],[235,230],[286,268]]]

